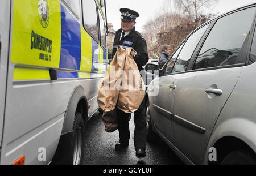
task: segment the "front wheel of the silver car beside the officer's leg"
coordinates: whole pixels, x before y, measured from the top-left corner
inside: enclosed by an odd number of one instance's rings
[[[156,143],[158,141],[158,135],[152,130],[151,116],[150,116],[150,104],[149,100],[146,102],[146,124],[147,124],[147,142]]]

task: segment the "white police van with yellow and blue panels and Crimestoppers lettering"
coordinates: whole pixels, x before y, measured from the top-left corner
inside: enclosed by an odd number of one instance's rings
[[[0,164],[81,164],[108,67],[102,0],[1,0]]]

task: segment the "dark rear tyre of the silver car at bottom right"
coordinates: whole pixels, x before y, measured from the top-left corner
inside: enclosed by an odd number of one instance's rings
[[[222,160],[221,165],[255,165],[256,156],[254,152],[251,151],[233,151],[229,153],[224,160]]]

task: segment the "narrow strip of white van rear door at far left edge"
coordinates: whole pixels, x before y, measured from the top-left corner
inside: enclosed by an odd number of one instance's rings
[[[11,1],[0,5],[0,148],[2,147],[3,118],[5,113],[6,75],[9,52],[9,28]]]

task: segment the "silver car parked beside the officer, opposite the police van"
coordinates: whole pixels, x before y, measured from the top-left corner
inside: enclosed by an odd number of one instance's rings
[[[256,164],[255,12],[230,11],[181,42],[147,89],[148,141],[160,136],[186,164]]]

